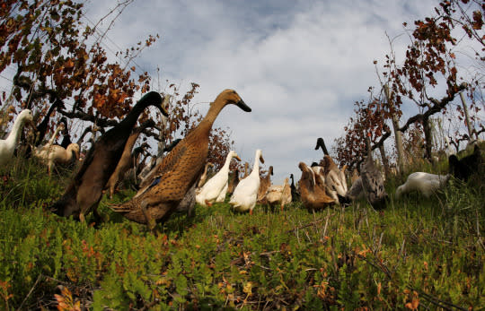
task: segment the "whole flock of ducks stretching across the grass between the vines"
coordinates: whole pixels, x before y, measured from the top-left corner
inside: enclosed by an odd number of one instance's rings
[[[137,194],[128,202],[112,205],[110,208],[123,214],[128,220],[154,229],[157,222],[167,220],[173,212],[191,214],[195,203],[210,206],[213,203],[225,202],[226,194],[231,194],[228,203],[235,211],[250,213],[256,203],[279,205],[283,209],[292,201],[301,201],[308,210],[318,211],[332,204],[345,205],[361,197],[365,197],[375,209],[385,207],[388,194],[384,189],[383,174],[372,160],[370,142],[366,142],[367,156],[360,166],[360,176],[352,178],[352,186],[349,189],[346,167],[338,168],[322,138],[317,140],[315,150],[322,148],[323,159],[320,163],[313,162],[311,166],[304,162],[298,164],[302,176],[297,188],[293,174],[285,179],[283,185],[271,185],[272,167],[269,167],[266,177],[260,177],[260,162],[264,163],[260,149],[255,152],[251,174],[241,180],[238,170],[229,180],[231,161],[241,160],[235,151],[227,154],[224,166],[207,180],[207,168],[211,165],[207,163],[209,134],[216,117],[229,104],[251,112],[251,108],[236,91],[222,91],[211,103],[207,115],[190,134],[170,146],[167,155],[159,159],[145,174]],[[97,219],[101,219],[97,206],[102,194],[106,190],[110,197],[112,196],[119,181],[131,167],[134,157],[142,150],[139,147],[132,152],[137,137],[146,127],[154,125],[154,121],[148,120],[143,125],[135,127],[138,117],[149,106],[158,108],[163,116],[168,116],[167,110],[163,107],[163,98],[158,92],[151,91],[145,94],[127,117],[93,143],[64,194],[50,206],[52,212],[64,217],[74,215],[81,221],[85,221],[87,213],[93,212]],[[16,117],[11,133],[5,140],[0,140],[0,165],[4,166],[12,159],[22,126],[32,123],[32,119],[29,109],[22,110]],[[57,127],[56,133],[48,143],[31,146],[31,154],[47,164],[48,174],[51,174],[54,165],[79,158],[77,143],[69,143],[66,147],[54,144],[57,132],[62,131],[63,126]],[[43,138],[45,130],[40,135]],[[445,176],[424,172],[410,174],[407,182],[398,187],[396,196],[412,190],[428,196],[444,186],[451,175],[461,179],[468,178],[476,167],[481,165],[480,148],[475,145],[473,154],[462,160],[452,155],[449,163],[450,174]]]

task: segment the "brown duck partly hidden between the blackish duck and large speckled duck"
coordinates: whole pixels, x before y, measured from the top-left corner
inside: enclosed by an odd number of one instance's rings
[[[137,143],[138,136],[145,130],[145,128],[153,127],[154,125],[154,121],[152,119],[148,119],[142,125],[135,128],[129,135],[118,165],[116,166],[113,174],[111,174],[110,179],[108,179],[108,183],[106,183],[106,186],[104,186],[104,189],[108,190],[110,199],[113,198],[115,188],[119,185],[119,182],[123,179],[128,169],[133,167],[134,160],[137,158],[139,152],[141,152],[141,150],[138,150],[138,154],[132,154],[131,152],[133,146],[135,143]]]

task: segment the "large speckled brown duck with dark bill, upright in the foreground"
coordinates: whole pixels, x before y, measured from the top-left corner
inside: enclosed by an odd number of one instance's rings
[[[207,161],[212,125],[221,110],[230,104],[243,111],[251,111],[236,91],[225,90],[219,93],[200,123],[155,167],[155,179],[151,184],[153,186],[132,200],[110,208],[123,214],[128,220],[146,224],[152,231],[157,222],[169,219],[185,194],[202,175]],[[154,182],[156,179],[159,181]]]

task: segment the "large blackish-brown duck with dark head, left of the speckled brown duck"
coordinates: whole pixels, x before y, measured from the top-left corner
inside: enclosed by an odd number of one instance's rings
[[[64,217],[78,215],[81,222],[85,222],[84,215],[91,210],[97,218],[101,218],[97,213],[97,206],[101,201],[102,189],[118,165],[138,117],[149,106],[159,108],[163,116],[168,116],[161,104],[162,96],[158,92],[146,93],[129,111],[127,117],[102,134],[87,152],[83,165],[67,186],[65,193],[50,210]]]

